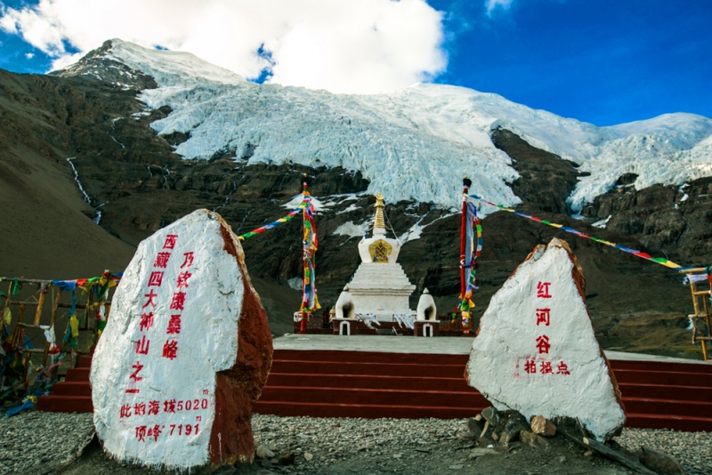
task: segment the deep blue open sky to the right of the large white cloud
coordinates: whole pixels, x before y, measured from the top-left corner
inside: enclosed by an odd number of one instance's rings
[[[498,93],[595,125],[669,112],[712,117],[712,2],[514,1],[449,10],[437,82]]]

